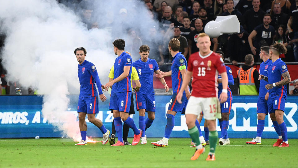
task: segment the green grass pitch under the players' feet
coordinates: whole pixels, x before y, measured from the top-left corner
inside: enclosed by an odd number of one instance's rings
[[[95,138],[100,141],[101,138]],[[262,145],[246,145],[251,139],[230,139],[231,145],[216,147],[216,161],[205,161],[209,152],[191,161],[195,149],[190,138],[170,138],[169,147],[146,145],[111,147],[108,143],[75,146],[71,139],[0,139],[0,167],[296,167],[298,139],[290,147],[272,147],[275,139]],[[132,141],[132,138],[129,138]]]

